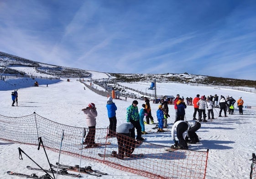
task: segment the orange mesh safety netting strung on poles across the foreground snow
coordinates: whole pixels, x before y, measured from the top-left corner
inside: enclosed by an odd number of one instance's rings
[[[106,157],[118,151],[117,138],[106,138],[108,128],[95,129],[96,148],[84,148],[82,141],[89,128],[78,128],[56,123],[36,113],[23,117],[0,115],[0,139],[13,143],[38,145],[42,138],[45,148],[59,152],[64,131],[61,153],[101,162],[115,169],[124,170],[150,179],[205,179],[208,151],[166,151],[167,146],[143,142],[134,150],[133,157],[117,159]],[[26,151],[26,148],[23,149]],[[17,151],[18,153],[18,151]],[[104,154],[100,157],[98,153]],[[143,155],[136,155],[143,153]]]

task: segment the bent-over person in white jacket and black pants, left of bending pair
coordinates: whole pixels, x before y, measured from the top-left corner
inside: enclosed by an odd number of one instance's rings
[[[185,141],[186,131],[188,130],[188,123],[185,121],[177,121],[172,126],[172,139],[175,144],[178,143],[178,148],[188,149],[188,144]],[[178,141],[175,139],[175,131]]]

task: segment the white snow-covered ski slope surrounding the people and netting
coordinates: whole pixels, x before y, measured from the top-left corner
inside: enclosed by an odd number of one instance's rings
[[[104,77],[104,73],[95,72],[93,74],[94,79]],[[105,74],[105,76],[107,76]],[[107,77],[106,77],[107,78]],[[14,80],[14,79],[12,79]],[[7,117],[21,117],[30,115],[36,112],[38,115],[66,125],[76,127],[87,127],[85,122],[84,113],[82,108],[87,107],[89,102],[93,102],[98,111],[98,117],[96,128],[106,128],[109,125],[109,119],[107,117],[106,102],[107,97],[100,96],[87,87],[78,79],[72,78],[70,82],[67,79],[48,85],[39,85],[39,87],[24,87],[18,89],[18,106],[11,106],[11,92],[13,90],[0,91],[0,114]],[[16,83],[23,82],[17,80]],[[90,82],[87,82],[89,84]],[[22,85],[22,84],[20,84]],[[150,84],[146,83],[122,83],[127,87],[134,89],[145,90],[146,87],[150,87]],[[0,87],[4,88],[4,83],[0,81]],[[94,84],[94,87],[97,87]],[[214,119],[209,123],[202,123],[202,127],[197,132],[201,143],[192,144],[191,147],[195,150],[205,151],[209,148],[209,159],[206,170],[206,179],[246,179],[249,178],[251,154],[256,152],[256,94],[249,92],[241,92],[230,89],[220,89],[211,87],[195,87],[187,84],[177,83],[157,83],[157,95],[173,95],[179,94],[181,97],[195,97],[196,94],[205,95],[230,95],[235,100],[239,96],[245,101],[244,105],[251,106],[251,108],[244,108],[244,114],[239,115],[237,108],[235,108],[235,114],[229,115],[227,118],[218,117],[217,112],[219,109],[214,110]],[[117,106],[116,117],[117,125],[125,123],[126,108],[131,105],[134,99],[124,97],[120,99],[114,99]],[[139,110],[141,104],[144,101],[138,100]],[[158,104],[153,104],[152,116],[155,122],[157,122],[156,111]],[[186,119],[192,120],[193,106],[188,106],[186,109]],[[173,105],[169,105],[168,128],[171,129],[174,122],[175,111]],[[146,131],[153,130],[153,125],[145,125]],[[24,130],[26,130],[24,128]],[[173,144],[170,131],[161,133],[158,136],[157,133],[151,133],[143,135],[146,138],[146,142],[157,143],[171,146]],[[61,140],[61,139],[60,139]],[[43,172],[30,171],[26,169],[26,166],[37,167],[30,159],[23,155],[23,160],[19,159],[18,147],[26,152],[32,159],[34,159],[40,166],[48,169],[47,159],[42,149],[37,150],[37,146],[9,143],[0,141],[0,178],[1,179],[18,179],[19,177],[10,176],[6,174],[7,171],[15,171],[24,174],[37,173],[43,175]],[[47,155],[51,163],[58,161],[59,153],[55,153],[47,150]],[[138,161],[139,162],[139,161]],[[71,156],[60,156],[60,163],[75,165],[80,163],[80,159],[73,158]],[[102,178],[104,179],[146,179],[145,177],[116,170],[110,168],[104,164],[89,162],[82,160],[81,166],[92,166],[93,169],[97,169],[108,173]],[[95,179],[95,176],[82,174],[84,178]],[[58,175],[58,179],[67,179],[71,177]]]

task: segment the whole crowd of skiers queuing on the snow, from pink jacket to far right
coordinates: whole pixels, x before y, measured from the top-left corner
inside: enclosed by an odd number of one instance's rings
[[[174,100],[174,109],[175,109],[175,122],[172,126],[172,138],[174,141],[174,145],[172,148],[183,148],[187,149],[187,143],[198,143],[199,138],[196,134],[196,131],[201,127],[200,122],[207,122],[205,110],[208,109],[208,119],[214,118],[213,108],[219,107],[219,117],[221,117],[221,112],[224,111],[226,117],[226,110],[228,109],[230,114],[234,113],[234,104],[235,99],[233,97],[224,96],[220,97],[219,104],[216,104],[218,100],[218,96],[214,95],[214,100],[211,100],[211,97],[205,97],[197,95],[193,99],[194,105],[194,113],[193,120],[184,121],[185,117],[185,108],[187,107],[184,99],[177,97]],[[118,153],[115,153],[115,157],[118,159],[124,159],[124,156],[130,156],[133,153],[136,145],[141,143],[144,138],[141,137],[142,134],[146,134],[145,132],[145,124],[154,123],[154,119],[152,117],[152,111],[150,107],[150,101],[147,97],[144,97],[145,104],[142,104],[142,108],[139,112],[138,110],[138,101],[134,100],[132,104],[127,107],[126,111],[126,122],[120,126],[116,127],[116,113],[117,107],[113,102],[112,97],[108,97],[108,101],[106,104],[108,118],[110,121],[109,125],[109,133],[107,137],[116,137],[118,141]],[[216,101],[215,101],[216,100]],[[167,118],[170,117],[168,114],[169,109],[167,105],[167,101],[165,99],[161,99],[161,104],[158,106],[157,110],[157,121],[158,128],[157,132],[164,132],[163,128],[167,128]],[[237,105],[239,107],[239,113],[243,114],[243,100],[241,97],[237,100]],[[96,127],[96,117],[97,110],[94,103],[89,103],[88,107],[82,109],[84,114],[86,115],[87,125],[89,127],[89,133],[86,135],[84,144],[87,147],[97,147],[97,143],[95,143],[95,127]],[[196,114],[199,113],[199,119],[197,121]],[[146,121],[144,121],[144,117],[146,117]],[[135,134],[136,129],[136,134]],[[178,140],[175,138],[175,132]]]

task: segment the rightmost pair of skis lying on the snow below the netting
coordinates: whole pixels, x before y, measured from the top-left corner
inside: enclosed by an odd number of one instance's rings
[[[64,164],[58,164],[58,163],[56,163],[56,165],[59,165],[60,168],[64,168],[67,170],[72,170],[72,171],[76,171],[76,172],[79,171],[79,165],[70,166],[70,165],[64,165]],[[57,167],[56,165],[53,165],[53,167]],[[85,173],[85,174],[95,175],[95,176],[102,176],[102,174],[107,175],[107,173],[92,169],[91,166],[80,167],[80,172]]]

